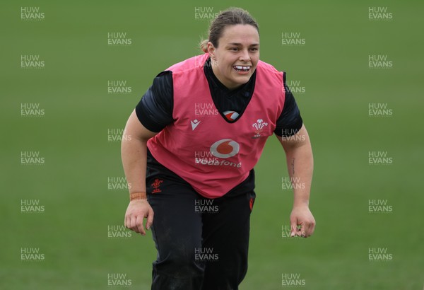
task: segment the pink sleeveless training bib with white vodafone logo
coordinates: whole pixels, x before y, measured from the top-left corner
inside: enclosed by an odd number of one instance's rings
[[[252,99],[234,123],[213,104],[204,63],[208,54],[171,66],[174,122],[148,140],[148,149],[208,198],[222,197],[249,175],[283,111],[283,73],[259,61]]]

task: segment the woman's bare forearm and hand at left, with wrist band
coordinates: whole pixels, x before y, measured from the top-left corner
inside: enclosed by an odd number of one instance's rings
[[[130,194],[146,192],[147,141],[155,134],[158,133],[151,132],[141,124],[134,110],[126,122],[121,143],[122,165]],[[127,228],[144,236],[146,231],[143,227],[143,219],[147,219],[146,229],[148,230],[153,223],[153,214],[147,199],[134,199],[129,202],[126,209],[124,224]]]

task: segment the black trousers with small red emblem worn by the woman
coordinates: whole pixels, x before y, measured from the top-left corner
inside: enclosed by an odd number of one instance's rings
[[[146,187],[158,250],[152,289],[238,289],[247,272],[254,171],[223,197],[208,199],[148,152]]]

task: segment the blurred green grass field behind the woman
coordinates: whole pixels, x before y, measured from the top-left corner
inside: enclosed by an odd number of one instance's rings
[[[116,140],[153,77],[199,54],[202,11],[228,6],[257,18],[261,59],[299,90],[315,162],[316,231],[285,238],[293,198],[269,139],[240,289],[423,289],[424,4],[380,0],[1,3],[0,289],[150,289],[151,233],[118,229],[128,194],[108,188],[124,177]],[[370,56],[385,60],[372,68]],[[370,104],[386,111],[370,116]],[[372,165],[370,152],[387,158]],[[388,207],[370,212],[372,201]]]

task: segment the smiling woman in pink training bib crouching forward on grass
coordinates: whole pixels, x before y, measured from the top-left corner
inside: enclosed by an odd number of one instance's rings
[[[259,60],[256,21],[240,8],[223,11],[201,48],[156,76],[126,123],[131,138],[122,139],[131,184],[124,224],[144,235],[146,218],[152,228],[152,289],[238,289],[247,273],[254,166],[273,134],[290,180],[302,185],[293,187],[290,234],[314,231],[310,139],[285,74]]]

